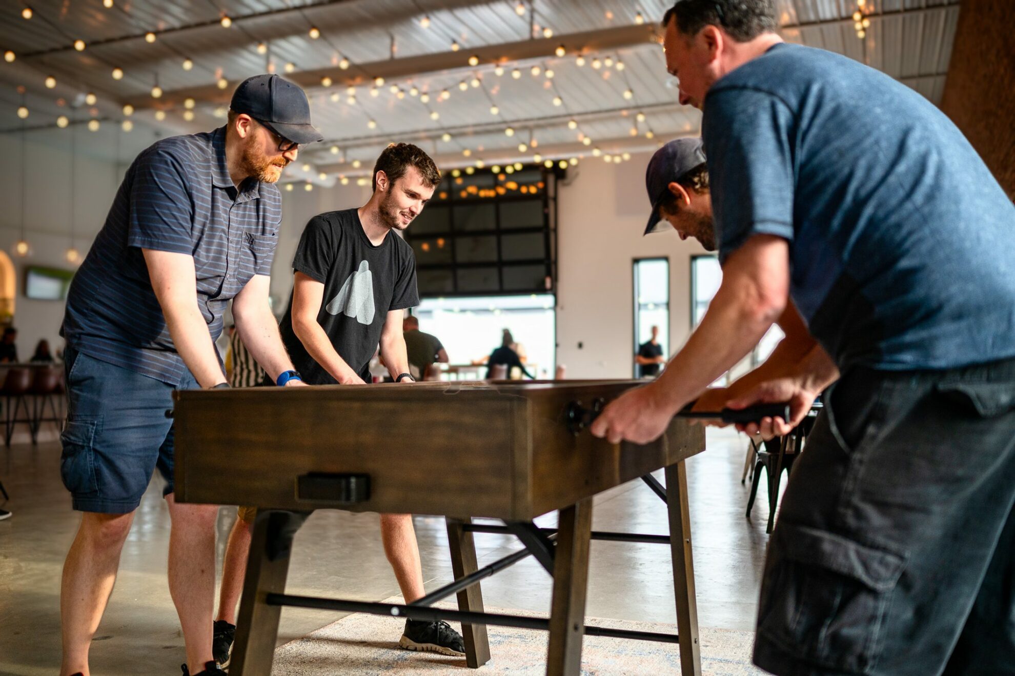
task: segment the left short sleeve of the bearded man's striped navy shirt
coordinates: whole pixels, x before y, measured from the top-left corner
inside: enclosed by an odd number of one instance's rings
[[[138,157],[130,189],[127,245],[193,255],[190,192],[178,158],[161,150]]]

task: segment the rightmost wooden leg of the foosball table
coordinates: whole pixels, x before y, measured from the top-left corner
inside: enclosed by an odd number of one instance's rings
[[[684,461],[666,468],[666,502],[670,513],[670,553],[673,557],[673,592],[677,602],[677,633],[680,636],[680,672],[683,676],[700,676],[701,653]]]

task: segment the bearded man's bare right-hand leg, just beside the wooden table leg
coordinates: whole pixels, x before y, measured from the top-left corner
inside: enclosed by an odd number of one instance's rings
[[[190,673],[204,671],[211,657],[211,617],[215,604],[214,504],[177,503],[167,495],[170,531],[170,595],[180,615]]]

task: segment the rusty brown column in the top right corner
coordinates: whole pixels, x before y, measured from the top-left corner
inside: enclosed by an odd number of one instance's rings
[[[1015,2],[962,0],[941,110],[1015,199]]]

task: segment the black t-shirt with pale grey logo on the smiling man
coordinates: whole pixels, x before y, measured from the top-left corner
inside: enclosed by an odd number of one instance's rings
[[[292,269],[324,284],[318,324],[335,351],[368,383],[370,357],[388,312],[419,305],[412,248],[394,232],[375,247],[363,232],[356,209],[329,211],[307,223]],[[291,295],[279,330],[306,383],[335,384],[292,331]]]

